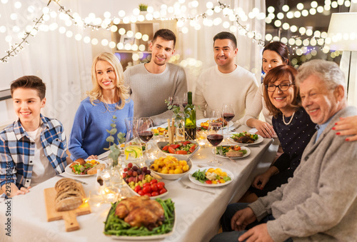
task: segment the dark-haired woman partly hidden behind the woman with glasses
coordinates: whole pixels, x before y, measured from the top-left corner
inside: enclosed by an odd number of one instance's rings
[[[274,41],[267,44],[263,49],[263,71],[265,74],[276,66],[288,65],[288,47],[279,42]],[[244,117],[244,124],[258,130],[257,134],[263,136],[264,138],[276,137],[276,133],[273,130],[271,123],[271,114],[269,114],[266,108],[265,101],[263,99],[264,86],[261,84],[258,91],[256,91],[256,96],[253,100],[253,109],[247,111]],[[265,121],[258,119],[259,114],[263,112]]]

